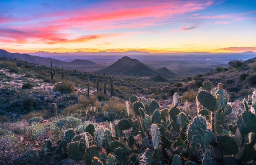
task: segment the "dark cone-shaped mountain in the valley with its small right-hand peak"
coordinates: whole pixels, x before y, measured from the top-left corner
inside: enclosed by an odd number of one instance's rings
[[[166,68],[167,69],[167,68]],[[166,70],[164,69],[164,70]],[[169,69],[167,69],[169,70]],[[162,70],[161,70],[162,71]],[[146,64],[138,61],[137,59],[132,59],[127,56],[118,59],[112,65],[96,71],[100,74],[112,74],[112,75],[124,75],[124,76],[171,76],[173,75],[172,71],[163,73],[158,69],[153,69],[147,66]],[[171,73],[171,74],[169,74]]]

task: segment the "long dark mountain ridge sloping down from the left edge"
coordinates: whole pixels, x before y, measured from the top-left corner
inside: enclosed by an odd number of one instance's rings
[[[77,66],[85,66],[85,65],[96,65],[96,63],[89,61],[89,60],[74,60],[71,62],[64,62],[58,59],[54,59],[54,58],[49,58],[49,57],[39,57],[39,56],[31,56],[29,54],[21,54],[21,53],[10,53],[8,51],[5,51],[3,49],[0,49],[0,57],[9,57],[9,58],[16,58],[18,60],[22,60],[22,61],[28,61],[31,63],[38,63],[41,65],[46,65],[46,66],[50,66],[51,61],[53,63],[54,66],[63,66],[63,67],[68,67],[70,65],[77,65]]]

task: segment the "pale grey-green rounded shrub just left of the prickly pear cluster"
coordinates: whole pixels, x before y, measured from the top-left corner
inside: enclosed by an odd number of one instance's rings
[[[54,125],[58,128],[63,128],[63,129],[68,129],[68,128],[76,128],[77,126],[79,126],[81,124],[80,119],[76,118],[76,117],[64,117],[61,118],[59,120],[57,120],[56,122],[54,122]]]

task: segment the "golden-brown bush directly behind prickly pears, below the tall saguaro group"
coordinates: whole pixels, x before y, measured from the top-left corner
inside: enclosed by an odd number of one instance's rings
[[[119,99],[111,99],[104,106],[103,111],[114,111],[116,113],[120,113],[121,111],[126,111],[126,105],[124,102],[121,102]]]

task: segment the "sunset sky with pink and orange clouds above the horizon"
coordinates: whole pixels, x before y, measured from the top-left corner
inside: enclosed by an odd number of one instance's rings
[[[256,0],[0,0],[0,49],[256,52]]]

